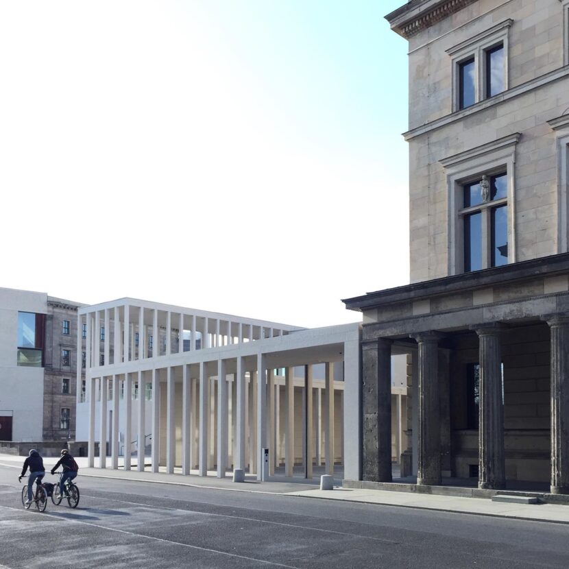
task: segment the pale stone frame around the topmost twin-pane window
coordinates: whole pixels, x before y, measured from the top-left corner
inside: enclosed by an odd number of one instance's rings
[[[465,40],[458,45],[450,47],[446,53],[450,56],[452,66],[452,112],[468,109],[473,105],[461,107],[460,105],[460,73],[461,64],[474,58],[474,105],[485,99],[487,95],[487,53],[502,45],[504,49],[504,88],[500,93],[508,90],[508,37],[512,19],[507,19],[485,30],[481,34]],[[492,95],[492,97],[498,96]]]

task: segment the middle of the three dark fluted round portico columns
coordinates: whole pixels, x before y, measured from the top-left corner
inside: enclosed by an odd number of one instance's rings
[[[479,488],[506,487],[500,325],[476,328],[480,339]]]

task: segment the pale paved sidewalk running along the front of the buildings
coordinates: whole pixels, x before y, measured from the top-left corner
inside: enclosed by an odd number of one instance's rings
[[[14,457],[12,455],[0,455],[0,465],[8,466],[9,468],[21,468],[23,459],[23,457]],[[57,458],[45,458],[46,468],[51,467],[57,460]],[[341,486],[335,486],[333,490],[322,491],[317,485],[306,483],[302,479],[298,482],[269,481],[261,483],[252,477],[247,477],[245,483],[234,483],[230,477],[218,479],[213,472],[210,473],[210,476],[205,477],[182,476],[182,474],[166,474],[165,472],[87,468],[86,458],[79,457],[76,460],[80,466],[80,476],[223,489],[231,492],[281,494],[282,496],[296,496],[300,498],[341,500],[378,506],[397,506],[516,520],[569,524],[569,506],[566,505],[500,503],[492,502],[492,500],[487,498],[435,496],[433,494],[417,494],[415,492],[342,488]],[[97,465],[97,462],[95,462],[95,465]],[[341,484],[341,481],[338,481],[338,483]]]

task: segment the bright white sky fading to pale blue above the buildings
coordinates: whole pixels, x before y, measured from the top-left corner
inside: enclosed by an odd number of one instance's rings
[[[404,0],[0,3],[0,287],[282,322],[409,282]]]

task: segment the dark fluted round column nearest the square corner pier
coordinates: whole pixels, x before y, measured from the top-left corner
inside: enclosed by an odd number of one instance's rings
[[[439,417],[439,342],[435,332],[415,335],[419,372],[419,439],[417,484],[441,483]]]

